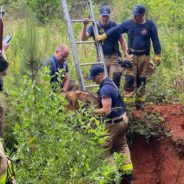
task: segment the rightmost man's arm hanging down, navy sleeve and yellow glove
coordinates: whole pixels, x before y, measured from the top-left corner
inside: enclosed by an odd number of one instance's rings
[[[155,52],[155,62],[157,65],[159,65],[162,61],[161,58],[161,45],[160,45],[160,40],[158,37],[158,31],[157,31],[157,27],[156,25],[153,23],[152,29],[151,29],[151,33],[150,33],[150,37],[153,43],[153,49]]]

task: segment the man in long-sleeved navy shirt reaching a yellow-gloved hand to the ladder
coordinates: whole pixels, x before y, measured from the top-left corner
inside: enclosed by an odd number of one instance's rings
[[[146,18],[145,6],[138,4],[133,7],[134,18],[125,20],[103,35],[97,35],[96,40],[102,41],[112,37],[116,32],[128,35],[128,61],[131,68],[126,68],[124,102],[135,102],[137,109],[144,109],[146,80],[155,70],[155,65],[161,62],[161,45],[155,23]],[[155,63],[150,58],[151,41],[155,53]]]

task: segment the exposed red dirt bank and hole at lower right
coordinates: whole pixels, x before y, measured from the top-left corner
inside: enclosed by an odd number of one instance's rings
[[[184,106],[148,106],[146,112],[159,112],[170,138],[151,139],[137,136],[131,147],[134,184],[184,184]],[[141,112],[133,115],[141,117]]]

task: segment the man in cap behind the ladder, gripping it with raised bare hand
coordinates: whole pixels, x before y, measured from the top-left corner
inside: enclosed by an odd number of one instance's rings
[[[103,34],[115,27],[116,22],[110,19],[111,9],[108,5],[102,6],[100,9],[100,20],[97,21],[97,27],[99,34]],[[87,28],[89,19],[84,19],[83,28],[81,31],[81,40],[86,41],[88,38],[94,38],[93,25]],[[121,53],[119,50],[119,43],[123,50],[124,55],[127,55],[127,45],[121,33],[115,33],[112,37],[107,38],[102,44],[102,49],[105,57],[105,63],[107,66],[110,79],[118,86],[120,86],[121,79],[121,66],[119,60],[121,60]]]

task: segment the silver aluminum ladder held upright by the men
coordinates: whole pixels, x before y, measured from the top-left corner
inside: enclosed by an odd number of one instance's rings
[[[94,35],[96,36],[99,33],[98,33],[98,27],[97,27],[97,23],[96,23],[95,16],[94,16],[92,1],[88,0],[86,2],[86,4],[87,4],[87,6],[89,8],[89,12],[90,12],[90,20],[89,21],[93,23],[93,31],[94,31]],[[76,69],[76,72],[77,72],[77,77],[78,77],[80,89],[82,91],[85,91],[88,88],[96,87],[98,85],[86,85],[85,84],[85,80],[84,80],[84,77],[83,77],[83,74],[82,74],[81,67],[85,67],[85,66],[89,66],[89,65],[95,65],[95,64],[101,64],[104,67],[105,75],[107,76],[107,68],[106,68],[106,65],[105,65],[105,59],[104,59],[104,54],[103,54],[103,50],[102,50],[102,45],[99,42],[95,43],[95,41],[75,41],[74,32],[73,32],[73,28],[72,28],[72,23],[79,23],[79,22],[83,23],[83,20],[71,20],[70,19],[67,0],[61,0],[61,7],[63,9],[64,19],[65,19],[65,22],[66,22],[66,25],[67,25],[67,31],[68,31],[68,35],[69,35],[71,48],[72,48],[73,59],[74,59],[74,64],[75,64],[75,69]],[[97,56],[99,57],[99,62],[80,64],[76,44],[91,44],[91,43],[96,44],[96,51],[97,51]]]

